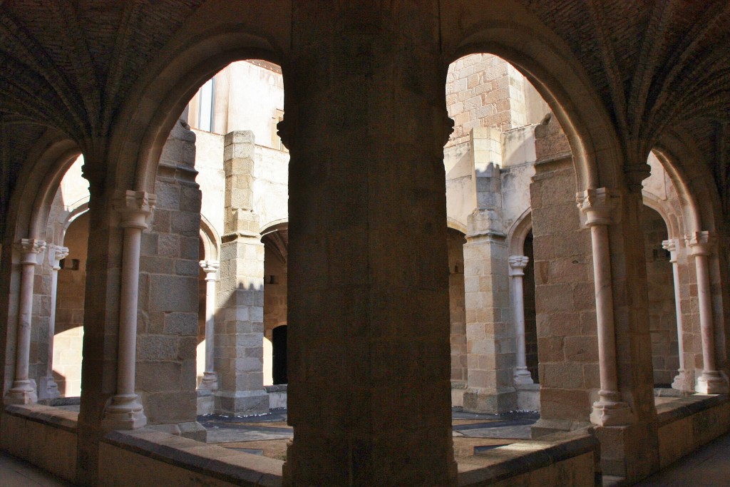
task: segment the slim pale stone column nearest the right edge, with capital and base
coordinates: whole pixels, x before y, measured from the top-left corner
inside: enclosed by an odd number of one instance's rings
[[[696,391],[702,394],[723,394],[728,383],[715,364],[715,327],[712,324],[712,291],[707,257],[712,254],[715,236],[709,231],[696,231],[685,236],[685,242],[697,274],[699,300],[699,328],[702,333],[702,375],[697,378]]]

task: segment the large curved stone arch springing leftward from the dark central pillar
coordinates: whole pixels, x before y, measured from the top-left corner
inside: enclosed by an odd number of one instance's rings
[[[276,5],[266,8],[281,25],[255,20],[268,17],[261,6],[211,5],[196,12],[191,29],[169,42],[121,111],[109,157],[117,188],[154,191],[157,164],[170,130],[200,86],[220,69],[242,59],[281,62],[281,50],[271,39],[274,34],[281,37],[287,25]],[[247,23],[231,23],[232,18]]]

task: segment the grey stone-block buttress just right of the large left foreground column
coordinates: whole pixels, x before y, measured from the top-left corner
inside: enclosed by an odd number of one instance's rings
[[[148,424],[178,433],[196,429],[201,193],[194,142],[195,134],[176,123],[158,166],[152,228],[142,234],[139,259],[137,393]],[[174,426],[184,423],[193,426]]]

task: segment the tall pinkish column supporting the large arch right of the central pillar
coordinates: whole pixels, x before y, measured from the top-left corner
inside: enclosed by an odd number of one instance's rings
[[[618,203],[607,188],[588,189],[577,194],[577,205],[591,229],[593,280],[596,288],[596,321],[601,390],[593,403],[591,423],[599,426],[623,426],[633,421],[629,404],[621,400],[616,367],[616,334],[613,321],[613,291],[608,226]]]

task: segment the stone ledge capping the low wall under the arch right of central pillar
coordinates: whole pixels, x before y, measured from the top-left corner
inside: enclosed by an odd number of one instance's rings
[[[599,451],[600,444],[592,428],[548,434],[539,440],[516,442],[475,455],[487,463],[482,467],[459,465],[458,485],[493,485],[518,475],[555,466],[562,461],[576,459],[586,453],[592,453],[593,482],[600,485],[600,470],[596,467]]]

